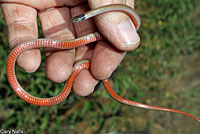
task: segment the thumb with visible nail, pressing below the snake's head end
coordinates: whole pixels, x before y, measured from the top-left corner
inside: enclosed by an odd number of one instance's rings
[[[110,4],[134,6],[133,0],[88,0],[88,3],[92,9]],[[140,37],[133,22],[124,13],[104,13],[96,16],[95,22],[104,37],[119,50],[130,51],[140,44]]]

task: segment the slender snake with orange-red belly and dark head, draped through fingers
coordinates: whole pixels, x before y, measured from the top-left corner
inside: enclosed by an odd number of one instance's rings
[[[131,7],[126,6],[126,5],[121,5],[121,4],[107,5],[107,6],[97,8],[97,9],[90,10],[84,14],[76,16],[72,22],[79,22],[82,20],[86,20],[88,18],[97,16],[97,15],[105,13],[105,12],[110,12],[110,11],[123,12],[123,13],[127,14],[131,18],[135,28],[137,30],[139,29],[140,24],[141,24],[139,15]],[[16,94],[19,97],[21,97],[26,102],[34,104],[34,105],[38,105],[38,106],[52,106],[52,105],[56,105],[56,104],[64,101],[67,98],[67,96],[69,95],[72,85],[73,85],[73,82],[74,82],[74,79],[79,74],[79,72],[81,72],[83,69],[89,69],[89,61],[81,61],[81,62],[78,62],[77,64],[75,64],[72,74],[70,75],[69,79],[67,80],[67,82],[63,88],[63,91],[59,95],[52,97],[52,98],[38,98],[38,97],[34,97],[34,96],[30,95],[29,93],[27,93],[26,91],[24,91],[24,89],[18,83],[16,75],[15,75],[15,62],[16,62],[17,57],[22,52],[24,52],[28,49],[41,48],[41,47],[58,48],[58,49],[72,49],[72,48],[77,48],[80,46],[87,45],[89,43],[92,43],[92,42],[95,42],[95,41],[98,41],[101,39],[102,39],[102,36],[98,32],[96,32],[96,33],[91,33],[91,34],[88,34],[86,36],[83,36],[83,37],[80,37],[77,39],[67,40],[67,41],[54,40],[54,39],[37,39],[37,40],[31,40],[31,41],[27,41],[27,42],[23,42],[23,43],[19,44],[17,47],[15,47],[11,51],[11,53],[8,57],[8,61],[7,61],[7,76],[8,76],[8,81],[9,81],[12,89],[16,92]],[[178,111],[178,110],[168,109],[168,108],[161,108],[161,107],[156,107],[156,106],[150,106],[150,105],[146,105],[146,104],[142,104],[142,103],[138,103],[135,101],[131,101],[131,100],[122,98],[119,95],[117,95],[114,92],[114,90],[111,88],[108,79],[103,80],[103,82],[104,82],[105,88],[106,88],[107,92],[110,94],[110,96],[123,104],[140,107],[140,108],[145,108],[145,109],[154,109],[154,110],[160,110],[160,111],[175,112],[175,113],[189,116],[189,117],[197,120],[198,122],[200,122],[200,119],[198,119],[197,117],[195,117],[189,113],[183,112],[183,111]]]

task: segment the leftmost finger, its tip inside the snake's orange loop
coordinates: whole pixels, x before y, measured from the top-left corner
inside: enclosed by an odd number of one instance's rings
[[[38,38],[37,10],[13,3],[2,3],[10,48],[28,40]],[[34,72],[41,63],[40,49],[23,52],[17,59],[17,64],[27,72]]]

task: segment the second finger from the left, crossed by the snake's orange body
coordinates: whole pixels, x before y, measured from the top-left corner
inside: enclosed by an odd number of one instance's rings
[[[58,40],[74,39],[69,8],[53,8],[39,12],[45,38]],[[50,80],[60,83],[71,74],[75,50],[46,49],[46,75]]]

